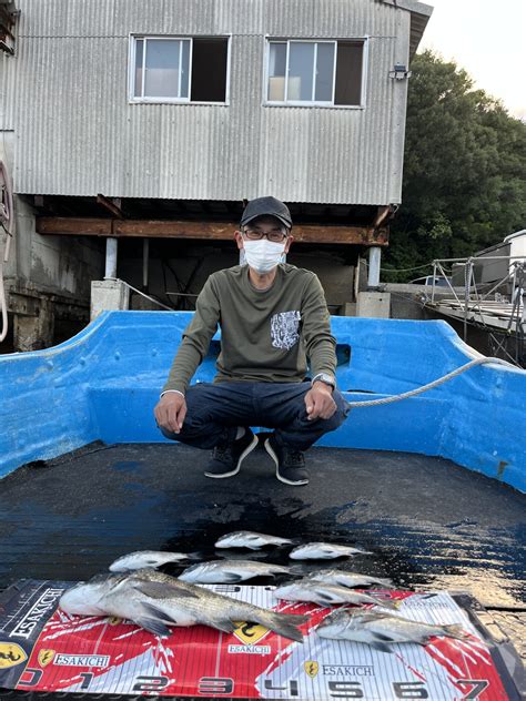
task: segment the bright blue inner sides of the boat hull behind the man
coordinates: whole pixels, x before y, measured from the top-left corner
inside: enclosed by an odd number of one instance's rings
[[[153,407],[190,318],[110,312],[60,346],[0,356],[0,476],[93,440],[164,443]],[[414,389],[474,357],[445,322],[333,317],[332,328],[350,402]],[[212,379],[219,343],[196,380]],[[526,372],[485,365],[417,397],[355,408],[320,445],[442,456],[526,491],[525,425]]]

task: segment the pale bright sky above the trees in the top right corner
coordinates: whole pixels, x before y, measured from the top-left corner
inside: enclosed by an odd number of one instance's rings
[[[423,0],[434,8],[418,52],[454,60],[526,120],[526,0]]]

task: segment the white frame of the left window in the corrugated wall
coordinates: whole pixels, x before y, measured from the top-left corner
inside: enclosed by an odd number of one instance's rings
[[[136,96],[135,93],[135,57],[136,57],[136,42],[142,40],[143,53],[142,53],[142,92],[144,92],[145,80],[145,60],[146,60],[146,41],[148,39],[162,39],[166,41],[180,41],[180,62],[182,57],[183,41],[190,41],[189,53],[189,96],[188,98],[170,98],[170,96],[155,96],[149,98]],[[193,40],[194,39],[226,39],[226,82],[225,82],[225,100],[224,102],[211,102],[191,100],[192,94],[192,62],[193,62]],[[232,34],[220,35],[165,35],[165,34],[129,34],[129,52],[128,52],[128,101],[130,104],[210,104],[216,106],[223,106],[230,104],[230,62],[231,62],[231,43]],[[180,63],[181,64],[181,63]],[[181,78],[179,80],[179,92],[181,92]]]

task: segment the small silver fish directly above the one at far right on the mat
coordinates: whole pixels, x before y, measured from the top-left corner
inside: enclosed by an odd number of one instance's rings
[[[287,601],[312,601],[321,606],[334,606],[336,603],[373,603],[388,609],[396,609],[397,603],[372,597],[362,591],[354,591],[340,585],[328,585],[313,579],[300,579],[295,582],[287,582],[274,589],[274,596]]]

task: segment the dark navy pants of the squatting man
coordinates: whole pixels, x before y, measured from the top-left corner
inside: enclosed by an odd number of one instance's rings
[[[234,440],[237,426],[275,430],[276,441],[306,450],[323,434],[335,430],[350,408],[335,389],[336,412],[328,419],[307,419],[305,395],[311,383],[200,383],[186,392],[188,414],[180,434],[161,429],[166,438],[196,448],[213,448]]]

